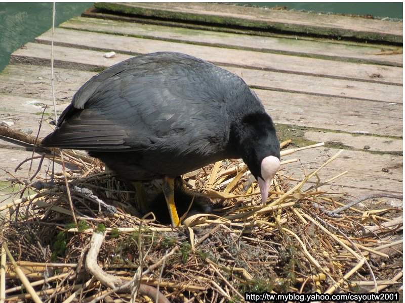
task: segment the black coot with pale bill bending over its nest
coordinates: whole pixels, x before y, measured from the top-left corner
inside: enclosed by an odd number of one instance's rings
[[[240,77],[204,60],[160,52],[115,64],[87,81],[43,146],[88,150],[118,178],[163,178],[173,226],[173,179],[242,158],[265,204],[280,165],[270,116]]]

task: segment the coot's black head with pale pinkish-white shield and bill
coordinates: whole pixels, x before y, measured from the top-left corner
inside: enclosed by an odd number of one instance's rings
[[[239,155],[258,181],[264,205],[280,166],[280,143],[274,124],[267,113],[257,112],[242,118],[237,132]]]

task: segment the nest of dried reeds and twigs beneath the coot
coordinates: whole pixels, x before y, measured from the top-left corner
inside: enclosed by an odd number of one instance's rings
[[[144,214],[139,186],[64,151],[77,169],[15,180],[24,197],[0,208],[0,301],[244,302],[245,292],[398,291],[402,210],[359,210],[361,198],[339,209],[342,196],[322,186],[345,172],[317,177],[338,156],[303,180],[283,172],[297,159],[283,161],[266,206],[240,161],[186,174],[188,216],[172,228]],[[167,211],[155,200],[149,211]],[[209,213],[188,209],[191,201]]]

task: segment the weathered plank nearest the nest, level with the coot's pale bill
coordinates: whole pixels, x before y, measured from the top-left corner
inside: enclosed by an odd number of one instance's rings
[[[338,149],[334,148],[316,148],[285,157],[286,159],[299,158],[301,162],[284,166],[281,173],[285,176],[292,175],[293,178],[302,179],[304,177],[304,170],[301,167],[301,163],[305,169],[305,173],[308,174],[330,159],[337,151]],[[28,176],[29,163],[24,164],[15,173],[14,169],[23,160],[32,156],[31,151],[0,148],[0,155],[1,168],[13,172],[19,178],[26,178]],[[41,154],[36,153],[35,156],[41,156]],[[32,164],[31,175],[37,169],[38,164],[39,160],[35,159]],[[50,168],[50,164],[48,160],[45,160],[43,169],[38,174],[38,177],[45,177],[45,171],[48,168]],[[74,169],[74,167],[69,166],[68,169]],[[57,165],[55,170],[61,171],[60,166]],[[329,185],[322,186],[321,190],[348,194],[381,191],[402,192],[402,157],[400,156],[372,155],[362,151],[345,150],[341,157],[323,168],[318,175],[321,181],[326,181],[345,170],[349,171],[346,175],[332,181]],[[10,175],[0,170],[0,181],[8,179],[10,179]]]

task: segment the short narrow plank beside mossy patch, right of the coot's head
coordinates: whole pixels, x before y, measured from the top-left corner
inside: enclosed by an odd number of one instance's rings
[[[371,150],[400,153],[403,151],[403,140],[390,137],[376,137],[360,134],[347,134],[329,131],[305,131],[304,139],[346,146],[357,150]]]

